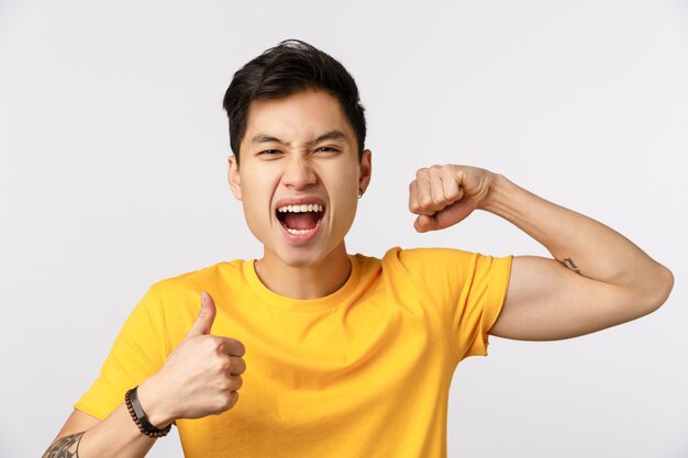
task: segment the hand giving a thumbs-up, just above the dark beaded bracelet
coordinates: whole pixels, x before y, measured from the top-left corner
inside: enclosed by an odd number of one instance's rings
[[[244,345],[210,334],[215,303],[201,293],[201,309],[181,343],[160,370],[138,387],[148,421],[165,427],[177,418],[200,418],[232,409],[246,370]]]

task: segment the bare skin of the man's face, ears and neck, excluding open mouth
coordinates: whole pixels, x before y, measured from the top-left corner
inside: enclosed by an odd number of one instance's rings
[[[343,135],[315,142],[331,132]],[[371,153],[364,150],[358,160],[356,135],[341,104],[323,91],[256,101],[240,150],[241,167],[234,156],[229,159],[229,179],[251,232],[264,246],[255,265],[260,280],[290,298],[336,291],[351,270],[344,236],[371,171]],[[282,198],[308,196],[325,203],[321,228],[308,243],[289,243],[275,204]]]

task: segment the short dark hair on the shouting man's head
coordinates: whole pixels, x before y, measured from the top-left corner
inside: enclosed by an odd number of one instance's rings
[[[296,92],[325,90],[339,100],[358,141],[358,158],[366,139],[366,119],[354,78],[330,55],[299,40],[286,40],[234,74],[222,107],[230,120],[230,145],[238,163],[254,100],[279,99]]]

